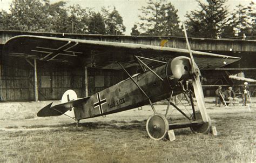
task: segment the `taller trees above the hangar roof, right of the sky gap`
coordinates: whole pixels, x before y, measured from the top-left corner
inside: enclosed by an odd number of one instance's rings
[[[200,9],[186,13],[187,33],[190,37],[256,39],[256,4],[237,5],[229,12],[225,0],[197,3]],[[184,5],[186,5],[184,3]],[[140,23],[134,24],[131,35],[183,36],[178,10],[169,2],[149,0],[143,6]]]

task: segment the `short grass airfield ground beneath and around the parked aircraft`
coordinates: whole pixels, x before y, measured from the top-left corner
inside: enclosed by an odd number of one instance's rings
[[[76,127],[63,116],[36,117],[48,103],[0,103],[0,162],[255,162],[255,104],[249,111],[207,103],[218,136],[183,128],[174,130],[171,142],[147,136],[149,106],[83,120]],[[156,109],[164,113],[165,107]],[[181,118],[171,110],[172,120]]]

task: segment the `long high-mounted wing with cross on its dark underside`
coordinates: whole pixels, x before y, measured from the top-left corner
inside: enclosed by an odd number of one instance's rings
[[[192,51],[192,53],[200,70],[216,69],[240,59],[207,52]],[[122,63],[124,67],[138,65],[134,56],[167,62],[174,57],[189,55],[186,49],[172,47],[30,35],[9,39],[4,45],[3,54],[44,62],[116,70],[120,69],[117,62]],[[151,67],[158,66],[151,60],[145,60],[145,63]]]

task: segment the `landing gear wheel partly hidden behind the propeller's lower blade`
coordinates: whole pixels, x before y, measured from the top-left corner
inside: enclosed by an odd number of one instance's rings
[[[204,123],[203,125],[198,125],[198,126],[192,126],[192,127],[190,127],[191,131],[193,133],[208,133],[208,132],[210,132],[210,127],[211,127],[212,123],[211,123],[211,119],[209,116],[208,116],[208,118],[209,118],[208,123]],[[192,114],[191,119],[194,120],[194,114]],[[202,120],[200,111],[196,111],[196,119]]]

